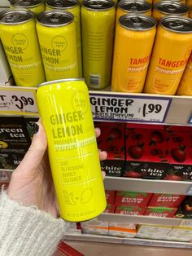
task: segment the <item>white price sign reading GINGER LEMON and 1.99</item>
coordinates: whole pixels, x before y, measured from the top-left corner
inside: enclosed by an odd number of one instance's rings
[[[89,93],[94,120],[164,123],[172,98]]]

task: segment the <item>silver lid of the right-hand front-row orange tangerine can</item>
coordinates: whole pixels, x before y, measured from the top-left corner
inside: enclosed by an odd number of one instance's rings
[[[176,33],[191,33],[192,20],[177,15],[166,16],[159,20],[159,24],[172,32]]]

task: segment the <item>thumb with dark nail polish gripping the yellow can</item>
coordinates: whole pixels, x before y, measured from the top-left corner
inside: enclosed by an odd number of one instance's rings
[[[36,127],[37,133],[33,135],[31,146],[28,148],[28,152],[25,154],[14,173],[22,172],[23,174],[26,174],[37,170],[37,167],[41,164],[42,157],[44,156],[47,147],[46,132],[41,121],[35,123],[34,126]]]

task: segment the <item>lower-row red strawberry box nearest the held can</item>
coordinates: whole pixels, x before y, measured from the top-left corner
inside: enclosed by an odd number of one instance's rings
[[[124,214],[124,215],[143,215],[146,210],[146,207],[139,206],[116,206],[116,214]]]

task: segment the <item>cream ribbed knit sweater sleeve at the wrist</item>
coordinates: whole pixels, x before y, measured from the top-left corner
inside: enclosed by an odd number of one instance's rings
[[[0,195],[0,255],[50,256],[63,238],[68,224],[62,219],[25,207]]]

